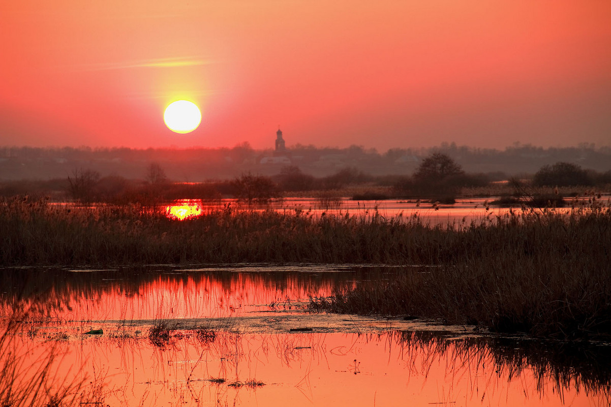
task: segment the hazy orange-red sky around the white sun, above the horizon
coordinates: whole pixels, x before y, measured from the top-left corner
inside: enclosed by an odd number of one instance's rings
[[[611,144],[611,1],[0,4],[0,145]],[[166,106],[202,124],[175,134]]]

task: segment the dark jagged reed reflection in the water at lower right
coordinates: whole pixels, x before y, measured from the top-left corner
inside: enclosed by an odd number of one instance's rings
[[[413,331],[395,331],[388,340],[400,345],[409,369],[417,374],[426,374],[439,360],[447,360],[453,374],[468,371],[473,376],[485,373],[488,364],[494,366],[487,370],[489,375],[507,381],[532,371],[541,395],[552,385],[561,400],[569,389],[597,394],[607,402],[611,399],[611,350],[605,345]],[[494,383],[489,379],[483,381]]]

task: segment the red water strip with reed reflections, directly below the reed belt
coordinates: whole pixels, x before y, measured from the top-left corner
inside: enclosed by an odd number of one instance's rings
[[[310,295],[331,295],[332,287],[352,286],[354,279],[381,273],[372,268],[351,273],[269,269],[240,273],[236,270],[246,269],[182,271],[161,266],[90,272],[7,269],[0,273],[0,287],[4,287],[0,290],[0,316],[10,315],[13,306],[19,306],[35,307],[38,311],[31,312],[29,317],[38,321],[78,321],[86,325],[91,320],[221,318],[240,314],[241,305],[250,306],[251,310],[283,308],[288,307],[287,298],[307,301]]]

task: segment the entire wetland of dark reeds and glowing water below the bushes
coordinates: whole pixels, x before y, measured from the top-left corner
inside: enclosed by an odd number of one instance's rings
[[[293,204],[3,200],[0,404],[609,405],[608,201]]]

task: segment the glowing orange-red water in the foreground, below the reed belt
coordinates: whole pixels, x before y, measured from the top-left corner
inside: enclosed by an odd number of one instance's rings
[[[55,354],[54,385],[84,380],[104,406],[609,405],[608,343],[309,308],[310,297],[357,281],[420,271],[5,269],[2,315],[18,315],[21,328],[4,351],[20,355],[24,372]]]

